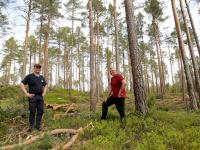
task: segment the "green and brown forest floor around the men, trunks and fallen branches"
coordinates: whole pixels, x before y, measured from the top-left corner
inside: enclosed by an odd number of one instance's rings
[[[0,147],[23,143],[30,137],[28,128],[28,101],[18,87],[0,87]],[[106,95],[106,94],[105,94]],[[200,147],[200,112],[187,112],[186,103],[177,94],[167,94],[163,100],[150,98],[150,111],[147,116],[134,112],[134,101],[129,95],[126,100],[126,127],[120,127],[119,115],[115,106],[109,109],[106,121],[100,121],[100,96],[95,114],[89,112],[89,93],[55,88],[45,97],[46,104],[72,104],[75,111],[66,116],[66,109],[45,109],[43,131],[34,130],[31,136],[41,135],[54,129],[79,129],[92,122],[72,145],[71,149],[111,150],[111,149],[149,149],[149,150],[188,150]],[[66,144],[72,134],[52,136],[44,134],[32,144],[14,149],[45,150]],[[1,148],[0,148],[1,149]]]

